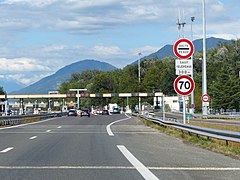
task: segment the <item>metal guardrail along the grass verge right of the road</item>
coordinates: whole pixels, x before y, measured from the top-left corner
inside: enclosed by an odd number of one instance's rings
[[[153,114],[148,115],[132,114],[132,115],[144,118],[146,120],[152,121],[163,126],[174,127],[176,129],[180,129],[182,131],[186,131],[189,133],[206,136],[208,138],[225,140],[227,145],[229,141],[240,143],[240,132],[203,128],[189,124],[182,124],[171,118],[166,118],[167,120],[163,120],[161,117],[155,117]]]

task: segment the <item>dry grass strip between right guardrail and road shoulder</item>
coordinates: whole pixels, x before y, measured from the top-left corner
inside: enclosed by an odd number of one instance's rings
[[[204,149],[222,153],[226,156],[230,156],[235,159],[240,159],[240,143],[229,142],[228,145],[226,145],[226,141],[217,140],[213,138],[209,139],[204,136],[184,132],[182,130],[178,130],[175,128],[161,126],[159,124],[147,121],[142,118],[141,121],[149,127],[157,129],[170,136],[182,139],[184,143],[190,143],[192,145],[196,145]]]

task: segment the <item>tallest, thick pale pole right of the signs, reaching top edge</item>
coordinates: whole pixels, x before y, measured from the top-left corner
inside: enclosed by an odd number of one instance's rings
[[[207,73],[206,73],[206,12],[205,0],[202,0],[203,8],[203,61],[202,61],[202,95],[207,94]],[[202,102],[202,116],[207,117],[207,106]]]

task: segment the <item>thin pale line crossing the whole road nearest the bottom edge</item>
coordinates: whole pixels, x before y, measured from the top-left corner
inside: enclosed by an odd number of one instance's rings
[[[0,166],[0,169],[135,169],[133,166]],[[240,171],[234,167],[148,167],[152,170],[178,171]]]

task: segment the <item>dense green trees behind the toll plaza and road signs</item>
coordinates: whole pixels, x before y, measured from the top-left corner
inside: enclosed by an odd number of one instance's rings
[[[138,83],[137,65],[129,65],[115,71],[84,71],[72,74],[69,82],[60,86],[61,93],[70,88],[87,88],[90,93],[119,92],[153,92],[161,91],[165,95],[176,95],[173,89],[175,75],[175,57],[164,60],[144,59],[141,62],[141,83]],[[210,106],[214,109],[237,109],[240,103],[240,40],[231,44],[220,44],[207,52],[207,87],[211,96]],[[202,95],[202,52],[194,54],[194,80],[196,109],[201,111]],[[123,104],[123,99],[101,99]],[[86,105],[97,105],[101,101],[85,100]],[[144,101],[152,103],[152,98]],[[132,98],[129,104],[134,107],[137,99]]]

